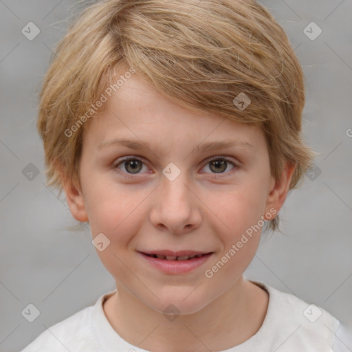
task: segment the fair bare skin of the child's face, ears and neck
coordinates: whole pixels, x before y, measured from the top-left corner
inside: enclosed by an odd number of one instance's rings
[[[258,126],[188,111],[137,74],[103,108],[83,135],[80,186],[64,181],[64,188],[73,217],[89,221],[93,238],[103,233],[110,241],[97,254],[118,289],[103,305],[111,326],[149,351],[221,351],[245,342],[267,311],[267,292],[243,278],[261,231],[212,278],[204,272],[270,209],[280,210],[294,167],[287,165],[281,179],[273,179]],[[117,137],[150,148],[98,148]],[[228,139],[252,147],[196,148]],[[209,159],[221,155],[231,161],[217,173]],[[119,164],[126,156],[141,161],[137,174]],[[170,162],[181,170],[173,181],[162,174]],[[151,267],[137,253],[153,249],[214,253],[205,265],[176,275]],[[163,314],[170,304],[180,312],[172,321]]]

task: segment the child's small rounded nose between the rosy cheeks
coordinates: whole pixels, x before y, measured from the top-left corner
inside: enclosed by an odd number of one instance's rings
[[[201,212],[199,199],[192,186],[181,173],[170,181],[162,177],[162,184],[155,190],[150,221],[155,228],[173,234],[186,234],[199,227]]]

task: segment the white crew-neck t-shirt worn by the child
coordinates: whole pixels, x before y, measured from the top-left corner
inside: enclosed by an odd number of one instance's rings
[[[351,351],[347,331],[327,311],[259,281],[252,283],[269,294],[263,325],[250,339],[223,352]],[[43,331],[21,352],[147,352],[122,339],[107,320],[102,303],[114,292]]]

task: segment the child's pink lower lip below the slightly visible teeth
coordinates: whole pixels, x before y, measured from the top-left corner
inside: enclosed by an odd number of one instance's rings
[[[212,255],[212,253],[204,254],[203,256],[195,257],[193,259],[188,259],[187,261],[167,261],[166,259],[154,258],[153,256],[148,256],[142,252],[138,252],[143,258],[145,258],[148,263],[161,270],[167,274],[183,274],[185,272],[190,272],[200,267]]]

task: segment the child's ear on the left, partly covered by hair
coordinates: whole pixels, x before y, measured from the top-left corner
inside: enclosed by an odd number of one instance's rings
[[[72,181],[63,177],[63,188],[72,217],[80,222],[88,221],[85,199],[83,198],[80,186],[72,184]]]

